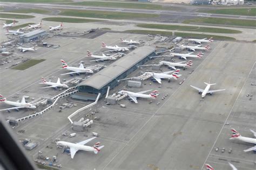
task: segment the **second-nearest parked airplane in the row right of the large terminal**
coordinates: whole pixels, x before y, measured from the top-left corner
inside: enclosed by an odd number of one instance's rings
[[[177,78],[179,78],[180,76],[182,76],[181,74],[178,75],[179,73],[179,69],[176,71],[167,71],[167,72],[163,72],[163,73],[154,73],[154,72],[145,72],[145,75],[151,74],[154,79],[157,80],[157,82],[159,84],[161,84],[161,79],[175,79],[177,80]],[[173,72],[173,73],[172,73]],[[169,74],[172,73],[172,74]]]

